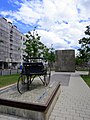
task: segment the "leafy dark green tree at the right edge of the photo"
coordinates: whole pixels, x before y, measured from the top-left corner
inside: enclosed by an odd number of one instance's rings
[[[86,28],[85,35],[87,35],[87,37],[83,37],[79,40],[81,48],[78,49],[79,59],[81,59],[83,63],[88,63],[90,61],[90,25],[86,26]]]

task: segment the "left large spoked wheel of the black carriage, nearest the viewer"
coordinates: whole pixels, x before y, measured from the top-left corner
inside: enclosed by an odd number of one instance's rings
[[[18,78],[17,90],[20,94],[27,91],[27,77],[25,75],[20,75]]]

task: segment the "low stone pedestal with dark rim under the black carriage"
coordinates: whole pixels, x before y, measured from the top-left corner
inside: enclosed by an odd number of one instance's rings
[[[19,94],[16,85],[0,89],[0,113],[32,120],[49,120],[60,94],[60,83],[52,82],[47,87],[33,82],[34,89]]]

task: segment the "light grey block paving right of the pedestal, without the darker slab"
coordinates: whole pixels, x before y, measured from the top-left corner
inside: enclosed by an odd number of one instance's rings
[[[58,109],[59,112],[57,115],[55,115],[63,116],[66,118],[65,120],[89,119],[90,89],[79,74],[84,74],[84,72],[71,73],[69,86],[61,87],[60,97],[58,98],[56,106],[54,107],[54,109]]]

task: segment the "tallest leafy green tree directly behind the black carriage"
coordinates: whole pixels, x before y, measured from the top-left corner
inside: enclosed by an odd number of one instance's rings
[[[40,36],[33,30],[33,32],[28,32],[26,34],[25,45],[25,55],[23,56],[24,61],[28,61],[31,57],[40,57],[42,54],[42,49],[44,45],[40,42]]]

